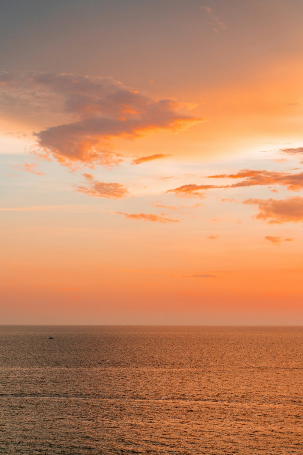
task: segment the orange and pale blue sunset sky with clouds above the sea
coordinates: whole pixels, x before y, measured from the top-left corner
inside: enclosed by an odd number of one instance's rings
[[[303,324],[302,0],[2,0],[0,324]]]

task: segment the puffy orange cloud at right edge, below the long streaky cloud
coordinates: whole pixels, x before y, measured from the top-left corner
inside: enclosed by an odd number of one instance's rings
[[[272,223],[303,221],[303,197],[288,197],[287,199],[246,199],[243,204],[257,205],[258,220]]]

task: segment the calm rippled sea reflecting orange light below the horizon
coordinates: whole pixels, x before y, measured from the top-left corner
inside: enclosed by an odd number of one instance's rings
[[[4,455],[302,455],[302,405],[302,327],[0,327]]]

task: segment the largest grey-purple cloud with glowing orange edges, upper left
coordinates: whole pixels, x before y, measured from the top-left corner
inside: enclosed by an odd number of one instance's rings
[[[1,82],[4,114],[39,118],[43,112],[52,118],[55,126],[35,133],[37,152],[66,166],[117,165],[121,157],[114,151],[115,139],[202,121],[179,112],[192,108],[189,104],[150,98],[111,77],[0,72]]]

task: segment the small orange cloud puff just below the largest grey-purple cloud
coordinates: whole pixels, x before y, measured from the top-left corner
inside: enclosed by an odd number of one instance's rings
[[[120,183],[104,183],[95,180],[91,174],[83,174],[89,182],[89,187],[76,186],[76,190],[89,196],[119,199],[129,194],[128,189]]]

